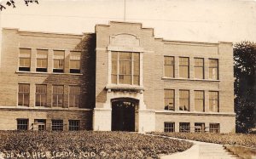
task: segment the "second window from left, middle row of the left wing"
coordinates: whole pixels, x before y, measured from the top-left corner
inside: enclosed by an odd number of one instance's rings
[[[46,106],[46,85],[36,85],[36,106]]]

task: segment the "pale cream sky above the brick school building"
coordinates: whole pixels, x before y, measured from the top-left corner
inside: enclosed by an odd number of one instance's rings
[[[4,3],[2,1],[2,3]],[[117,20],[154,28],[172,41],[256,42],[256,1],[245,0],[16,0],[0,13],[0,27],[82,34]]]

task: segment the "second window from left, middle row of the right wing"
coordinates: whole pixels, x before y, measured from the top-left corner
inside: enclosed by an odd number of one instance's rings
[[[179,111],[189,111],[189,90],[179,91]]]

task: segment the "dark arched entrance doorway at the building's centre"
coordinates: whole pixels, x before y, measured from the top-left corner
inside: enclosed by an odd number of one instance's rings
[[[113,99],[111,130],[134,132],[137,105],[136,99]]]

